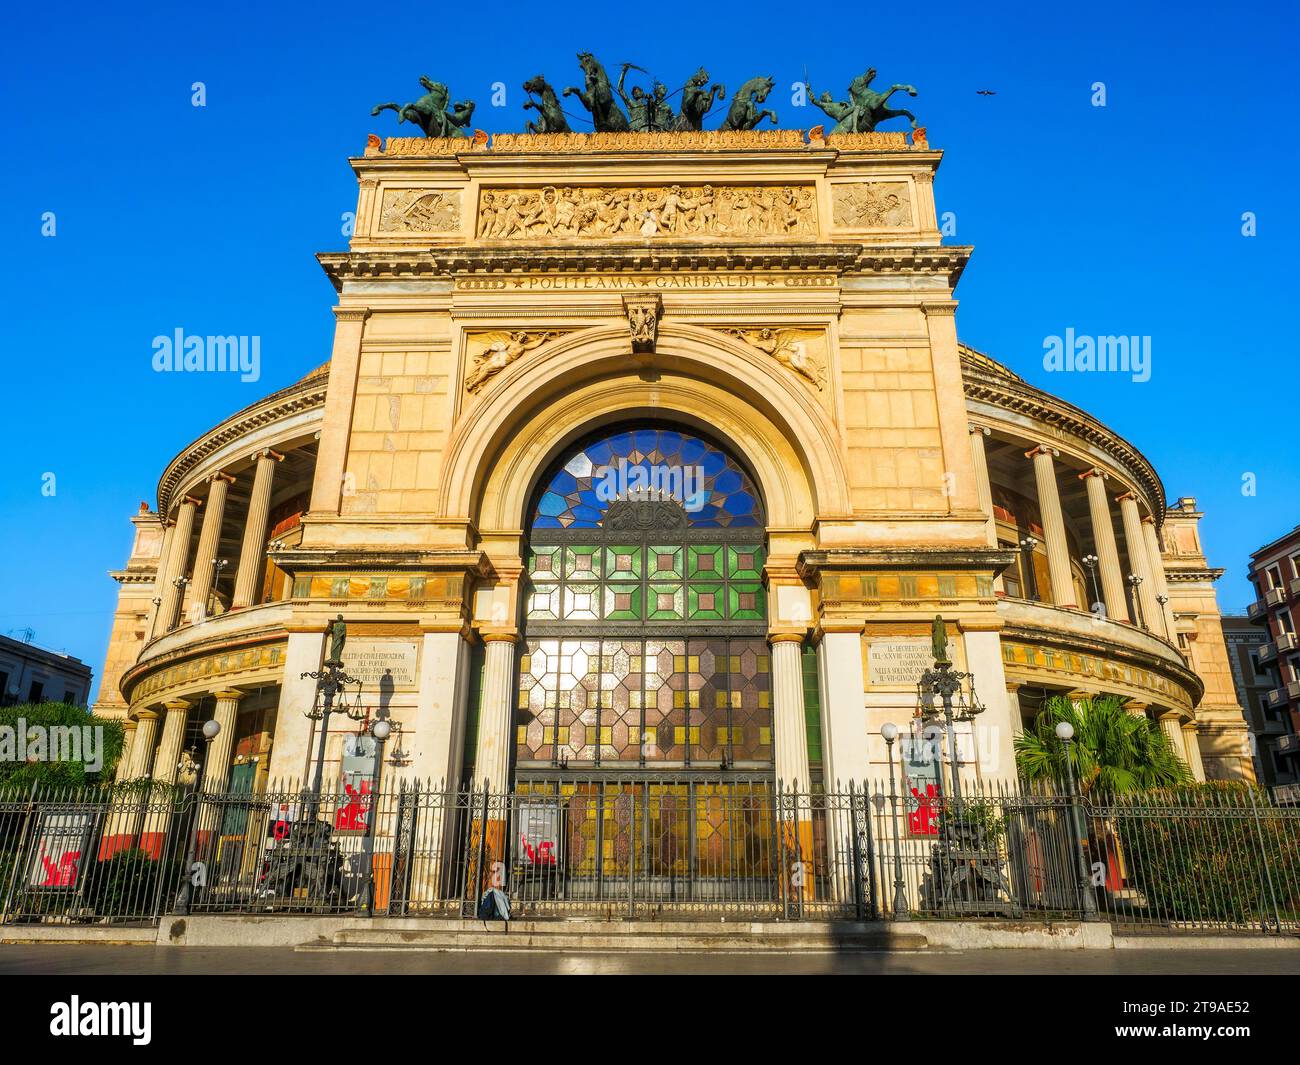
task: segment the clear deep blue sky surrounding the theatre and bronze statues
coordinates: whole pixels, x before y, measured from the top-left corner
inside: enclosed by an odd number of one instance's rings
[[[822,120],[790,107],[805,69],[818,91],[868,65],[914,83],[946,152],[939,209],[975,246],[962,338],[1136,443],[1171,499],[1195,495],[1239,607],[1249,551],[1300,523],[1296,22],[1282,4],[22,5],[0,72],[0,632],[30,625],[98,671],[107,571],[164,463],[328,359],[313,254],[344,247],[346,156],[398,131],[369,108],[429,74],[478,100],[474,125],[516,131],[519,85],[576,83],[580,48],[670,86],[701,64],[728,86],[772,74],[785,126]],[[151,341],[177,328],[260,335],[261,380],[155,373]],[[1150,335],[1150,380],[1046,373],[1043,339],[1066,328]]]

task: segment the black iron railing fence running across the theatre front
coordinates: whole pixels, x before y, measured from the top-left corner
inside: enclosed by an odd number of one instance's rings
[[[497,893],[499,892],[499,895]],[[888,783],[604,779],[510,793],[173,787],[0,792],[0,922],[172,913],[1105,919],[1300,931],[1300,809]]]

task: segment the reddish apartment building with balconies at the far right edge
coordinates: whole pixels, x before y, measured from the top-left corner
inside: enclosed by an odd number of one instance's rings
[[[1265,705],[1286,723],[1274,746],[1278,761],[1292,779],[1300,772],[1300,525],[1251,555],[1251,583],[1256,601],[1247,615],[1264,625],[1268,642],[1260,646],[1260,661],[1277,671],[1277,684],[1265,696]]]

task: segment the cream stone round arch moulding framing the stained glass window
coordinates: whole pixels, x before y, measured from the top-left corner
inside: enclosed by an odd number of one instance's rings
[[[581,330],[549,347],[499,375],[450,443],[442,512],[468,518],[480,534],[521,533],[537,479],[559,453],[636,417],[699,429],[744,455],[770,529],[806,532],[819,516],[848,512],[826,412],[759,352],[688,325],[660,328],[650,368],[628,351],[625,328]]]

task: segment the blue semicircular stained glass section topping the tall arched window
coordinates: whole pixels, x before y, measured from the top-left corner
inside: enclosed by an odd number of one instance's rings
[[[724,450],[677,429],[601,436],[569,454],[537,501],[534,529],[597,529],[627,521],[628,503],[676,503],[694,529],[762,529],[749,475]]]

